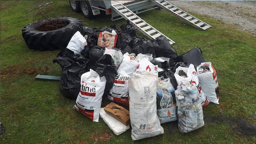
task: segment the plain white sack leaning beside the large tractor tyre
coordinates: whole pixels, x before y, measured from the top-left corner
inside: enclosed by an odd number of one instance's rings
[[[73,37],[71,37],[66,48],[72,50],[75,54],[81,54],[85,46],[87,46],[86,39],[77,31]]]

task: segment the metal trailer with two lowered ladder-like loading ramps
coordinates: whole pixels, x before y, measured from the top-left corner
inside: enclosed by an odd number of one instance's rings
[[[207,30],[211,27],[207,23],[188,14],[187,12],[179,9],[165,0],[88,0],[69,1],[69,3],[73,11],[81,11],[82,14],[88,19],[91,19],[94,15],[100,14],[101,11],[105,11],[106,15],[111,14],[112,21],[120,18],[129,20],[130,23],[133,23],[133,25],[137,27],[140,32],[145,34],[150,39],[156,39],[162,33],[146,23],[136,14],[153,9],[159,9],[160,7],[199,30]],[[169,40],[170,44],[175,43],[170,38],[166,38]]]

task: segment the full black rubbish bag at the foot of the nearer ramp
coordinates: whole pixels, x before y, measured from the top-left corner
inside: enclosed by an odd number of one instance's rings
[[[153,45],[156,52],[156,57],[170,58],[174,61],[178,54],[176,50],[171,46],[165,36],[161,35],[153,41]]]

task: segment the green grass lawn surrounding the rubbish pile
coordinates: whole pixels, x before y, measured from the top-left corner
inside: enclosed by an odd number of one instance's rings
[[[131,128],[116,136],[100,118],[92,122],[73,110],[74,100],[64,98],[58,82],[36,81],[37,74],[61,75],[61,68],[52,60],[60,50],[41,52],[28,49],[21,29],[33,22],[36,12],[56,16],[77,17],[84,26],[104,27],[112,22],[111,15],[96,16],[87,20],[81,13],[71,10],[68,1],[53,1],[42,9],[37,5],[48,1],[1,1],[1,122],[6,132],[2,143],[256,143],[255,135],[239,134],[226,122],[205,122],[205,126],[187,134],[177,128],[170,133],[132,142]],[[198,46],[206,61],[213,63],[218,73],[220,104],[210,103],[203,109],[204,116],[243,117],[256,124],[256,37],[213,20],[193,14],[212,28],[200,31],[179,20],[165,10],[151,10],[139,14],[176,43],[178,54]],[[143,36],[138,32],[138,35]],[[103,100],[102,106],[109,101]],[[100,139],[103,134],[110,139]],[[112,135],[112,136],[111,136]],[[98,140],[97,140],[98,138]]]

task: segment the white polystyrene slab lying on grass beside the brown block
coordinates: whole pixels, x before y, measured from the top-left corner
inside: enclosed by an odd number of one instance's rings
[[[114,134],[119,135],[130,128],[130,124],[128,126],[122,124],[117,121],[117,119],[113,118],[109,114],[104,111],[104,108],[100,109],[100,117],[103,121],[108,125],[108,127],[114,132]]]

